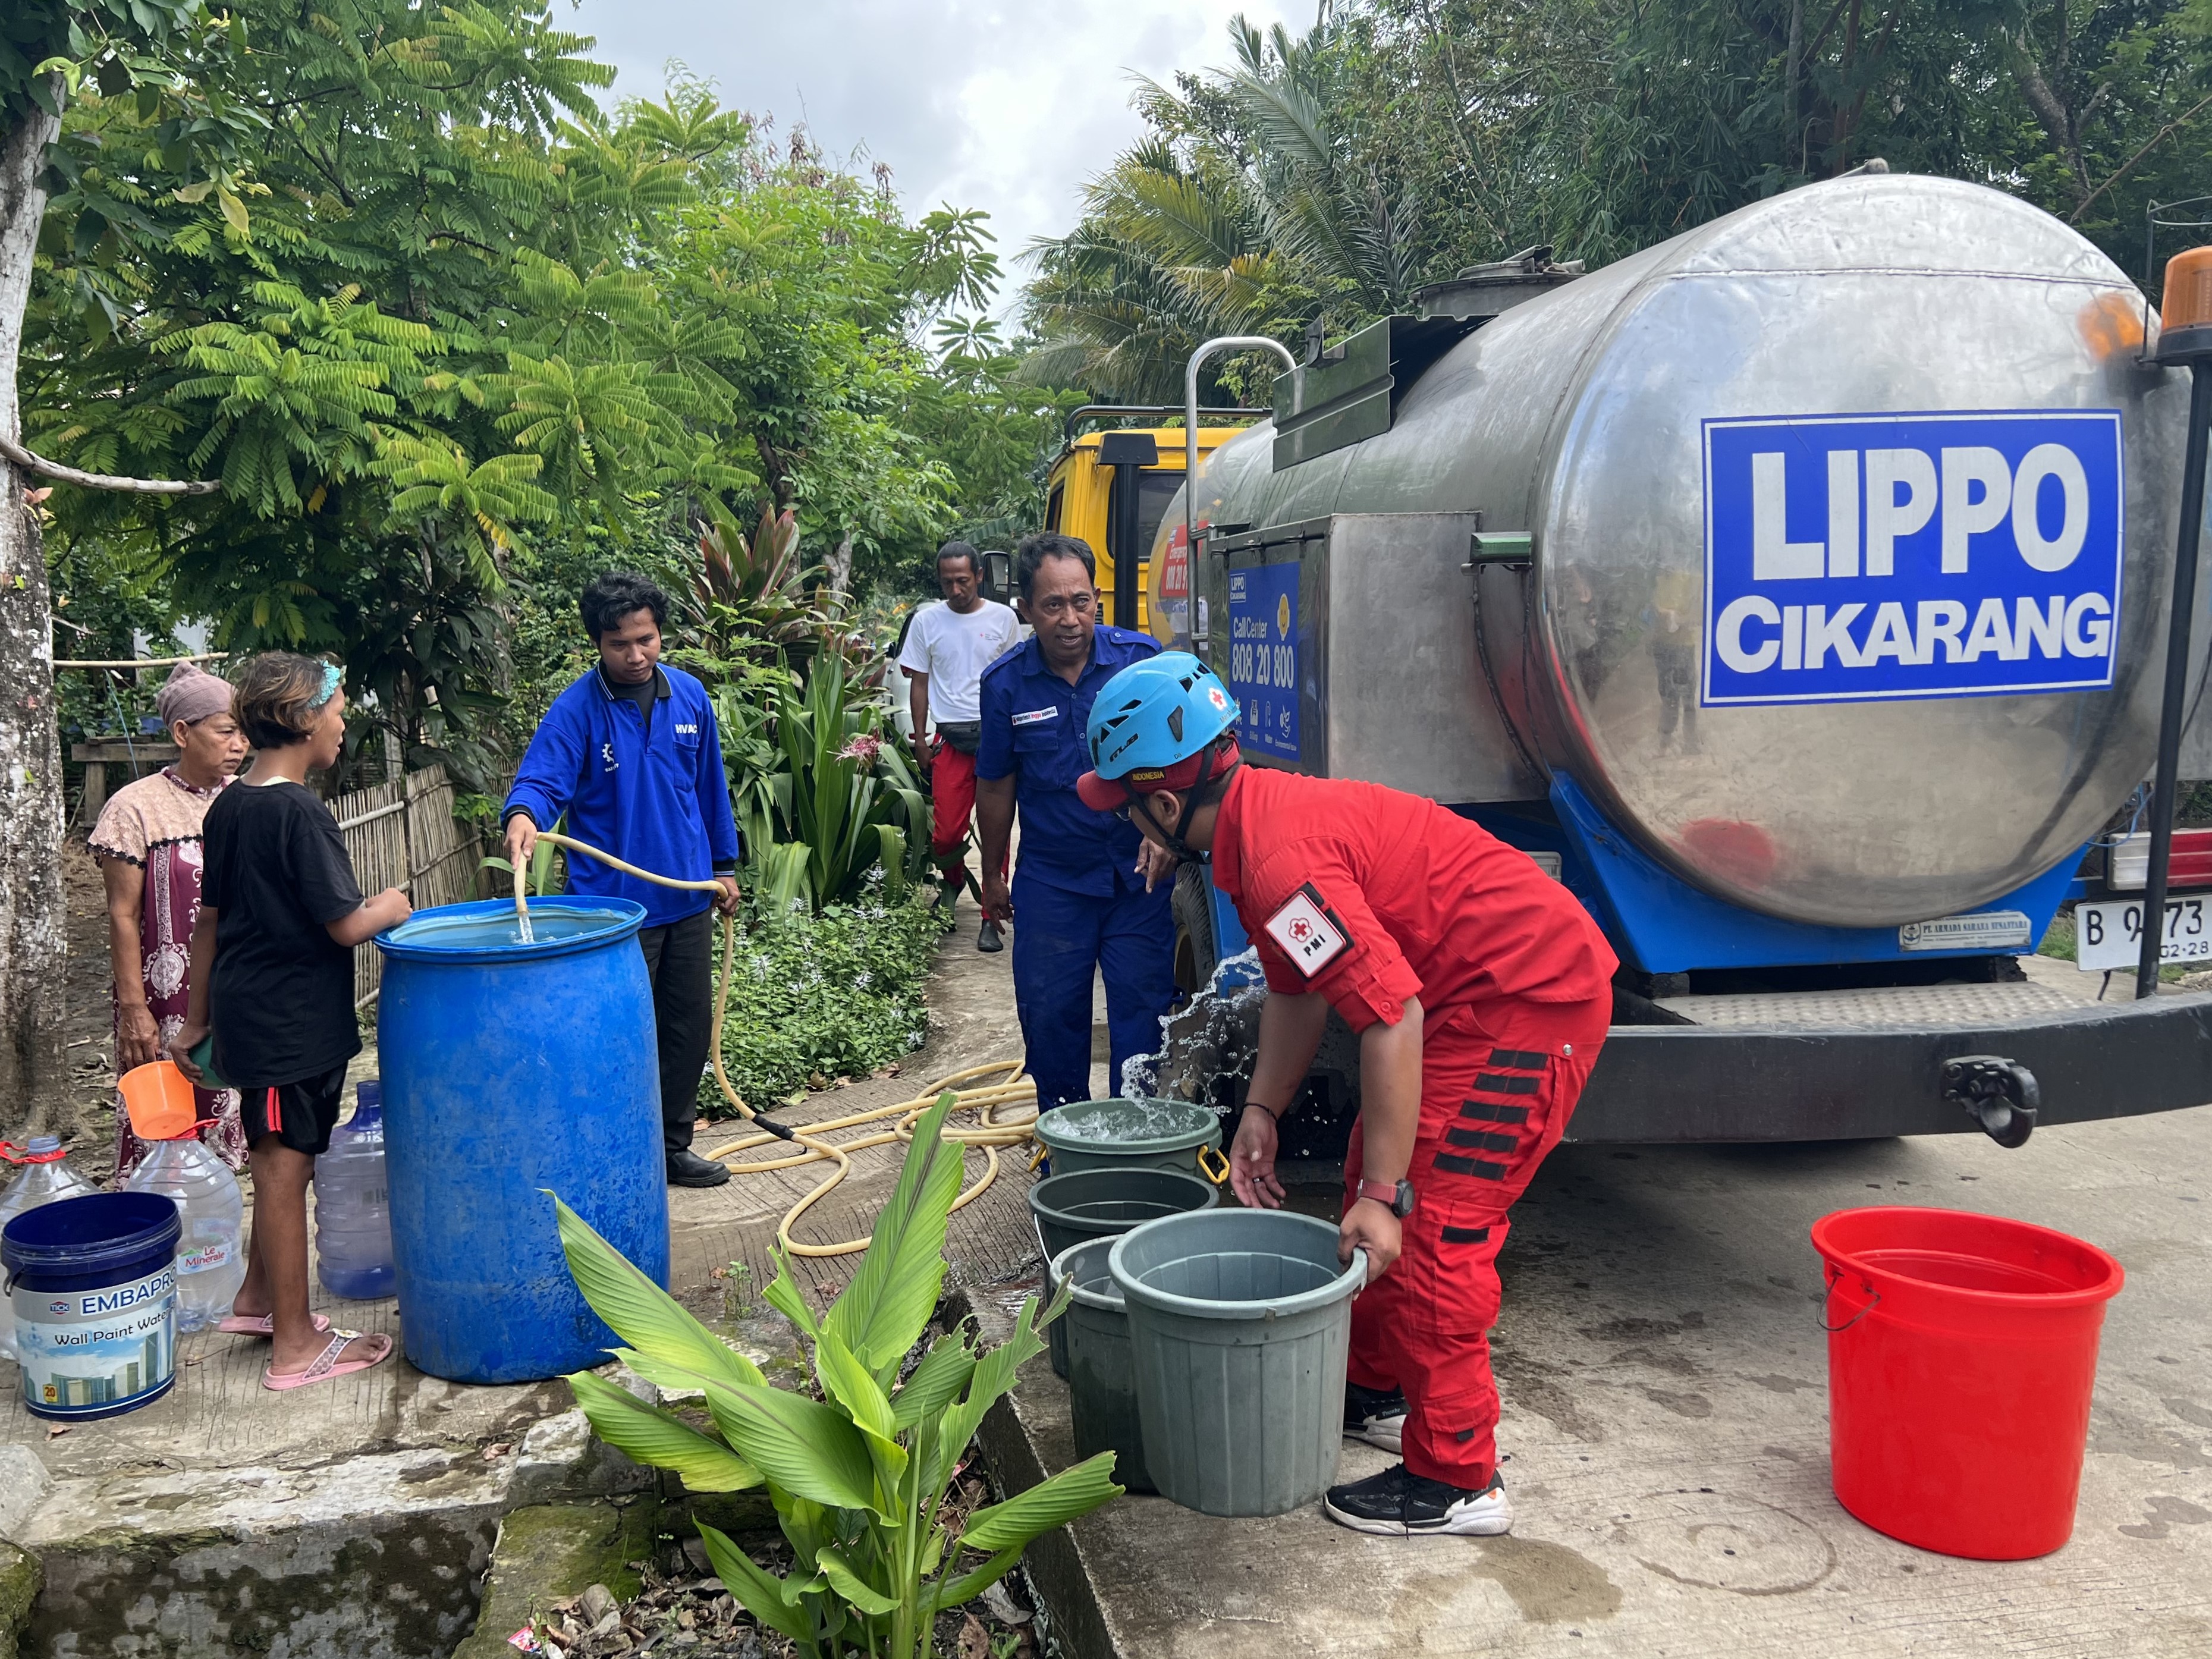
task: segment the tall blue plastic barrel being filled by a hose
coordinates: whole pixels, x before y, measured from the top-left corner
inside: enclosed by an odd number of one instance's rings
[[[400,1334],[416,1369],[526,1383],[599,1365],[553,1199],[668,1283],[653,989],[626,898],[442,905],[376,936],[376,1062]]]

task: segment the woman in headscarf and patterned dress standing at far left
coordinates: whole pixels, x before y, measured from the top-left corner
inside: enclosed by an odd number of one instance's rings
[[[117,1077],[159,1060],[184,1029],[192,922],[199,920],[199,825],[246,759],[228,681],[179,664],[155,708],[177,741],[177,763],[117,790],[93,825],[93,856],[108,889]],[[192,1097],[201,1141],[230,1168],[246,1168],[237,1091],[195,1088]],[[117,1102],[115,1179],[142,1157],[146,1141],[131,1133]]]

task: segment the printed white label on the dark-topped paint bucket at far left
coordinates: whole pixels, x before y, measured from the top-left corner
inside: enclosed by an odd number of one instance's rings
[[[175,1265],[100,1290],[15,1285],[13,1303],[22,1398],[42,1416],[104,1416],[175,1376]]]

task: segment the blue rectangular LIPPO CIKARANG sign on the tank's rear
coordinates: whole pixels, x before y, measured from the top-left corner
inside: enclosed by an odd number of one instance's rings
[[[1705,422],[1717,703],[2112,684],[2117,409]]]

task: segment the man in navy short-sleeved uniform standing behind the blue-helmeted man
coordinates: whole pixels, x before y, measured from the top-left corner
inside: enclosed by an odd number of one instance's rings
[[[1048,1110],[1091,1097],[1093,973],[1106,975],[1108,1093],[1121,1093],[1126,1060],[1159,1048],[1175,998],[1170,885],[1148,880],[1139,860],[1150,854],[1126,818],[1075,796],[1075,779],[1091,770],[1091,701],[1159,641],[1097,619],[1097,560],[1075,535],[1022,542],[1015,582],[1037,633],[982,672],[975,827],[984,914],[1013,922],[1013,1002],[1037,1106]],[[998,872],[1015,807],[1022,860],[1009,891]]]

